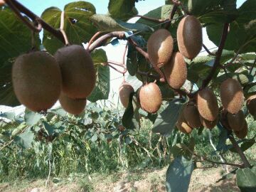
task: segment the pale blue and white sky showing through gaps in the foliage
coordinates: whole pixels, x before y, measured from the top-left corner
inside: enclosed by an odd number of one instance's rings
[[[109,0],[87,0],[88,2],[92,3],[96,8],[97,14],[107,14],[107,5]],[[208,0],[206,0],[208,1]],[[256,0],[255,0],[256,1]],[[56,6],[59,9],[64,8],[65,4],[68,4],[70,2],[74,2],[74,0],[19,0],[21,4],[26,6],[28,9],[33,11],[38,16],[41,16],[43,11],[50,6]],[[240,7],[242,3],[245,2],[245,0],[238,0],[237,1],[237,7]],[[156,9],[159,6],[163,6],[165,4],[165,0],[145,0],[145,1],[139,1],[136,4],[136,8],[139,11],[139,14],[144,15],[147,12],[149,12],[152,9]],[[107,46],[104,48],[107,53],[107,58],[109,60],[114,60],[117,62],[122,62],[122,53],[124,51],[124,41],[122,41],[121,46]],[[203,43],[208,48],[215,48],[215,45],[208,39],[208,36],[206,34],[206,30],[203,30]],[[203,51],[203,49],[202,49]],[[118,53],[118,54],[117,54]],[[201,53],[201,55],[207,55],[206,52]],[[110,70],[110,98],[115,102],[117,102],[118,99],[118,87],[120,83],[122,82],[122,75],[120,73],[117,73],[114,70]],[[58,104],[57,104],[58,105]],[[16,112],[21,113],[23,112],[24,107],[5,107],[0,106],[0,112]]]

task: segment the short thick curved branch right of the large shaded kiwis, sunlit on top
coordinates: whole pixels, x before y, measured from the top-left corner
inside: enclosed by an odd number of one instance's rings
[[[126,38],[124,31],[113,31],[105,34],[104,36],[101,36],[100,38],[97,38],[97,40],[90,45],[88,50],[92,52],[92,50],[95,50],[95,48],[102,46],[102,44],[105,43],[105,41],[107,41],[109,38],[114,37],[119,39]]]

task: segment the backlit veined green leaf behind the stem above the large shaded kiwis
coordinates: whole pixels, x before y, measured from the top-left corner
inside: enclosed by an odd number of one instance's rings
[[[96,13],[95,6],[86,1],[75,1],[67,4],[64,11],[64,31],[67,33],[70,43],[81,44],[89,41],[97,31],[90,21],[90,17]],[[41,17],[53,28],[60,28],[60,16],[60,9],[50,7],[43,11]],[[48,31],[44,31],[43,46],[48,52],[55,53],[58,48],[63,46],[63,43]]]

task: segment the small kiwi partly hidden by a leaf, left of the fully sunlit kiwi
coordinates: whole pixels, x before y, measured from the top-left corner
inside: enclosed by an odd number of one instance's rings
[[[134,92],[134,88],[128,82],[124,81],[119,87],[119,98],[122,105],[127,108],[129,104],[129,95]]]

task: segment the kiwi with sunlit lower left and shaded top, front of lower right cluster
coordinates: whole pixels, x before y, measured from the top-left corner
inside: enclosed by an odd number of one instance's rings
[[[198,112],[201,116],[213,122],[218,116],[218,101],[213,91],[205,88],[198,92],[196,97]]]

